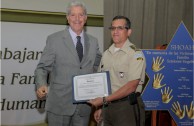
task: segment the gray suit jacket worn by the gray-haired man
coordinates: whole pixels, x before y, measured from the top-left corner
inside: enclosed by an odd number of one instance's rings
[[[37,89],[47,84],[49,74],[49,93],[46,110],[58,115],[73,115],[78,105],[80,115],[89,115],[88,104],[73,104],[72,78],[75,75],[93,73],[101,60],[98,41],[84,33],[84,56],[80,63],[76,48],[68,28],[51,34],[35,70]]]

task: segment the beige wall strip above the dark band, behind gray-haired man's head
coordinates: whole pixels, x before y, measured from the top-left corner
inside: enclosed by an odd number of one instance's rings
[[[36,10],[49,12],[66,12],[67,3],[72,0],[1,0],[2,8]],[[83,1],[89,14],[103,15],[103,0],[80,0]]]

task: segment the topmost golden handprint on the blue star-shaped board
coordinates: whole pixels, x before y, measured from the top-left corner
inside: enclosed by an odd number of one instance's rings
[[[161,67],[163,62],[164,62],[164,59],[162,59],[162,57],[157,56],[156,59],[153,57],[152,70],[154,72],[158,72],[158,71],[162,70],[165,67],[165,66]]]

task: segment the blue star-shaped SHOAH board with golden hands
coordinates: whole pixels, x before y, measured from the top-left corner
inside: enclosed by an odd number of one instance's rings
[[[148,84],[147,110],[168,110],[178,126],[194,125],[194,42],[183,23],[165,50],[143,50]]]

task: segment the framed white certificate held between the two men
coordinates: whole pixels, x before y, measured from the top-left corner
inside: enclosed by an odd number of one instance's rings
[[[86,102],[111,93],[109,72],[92,73],[73,77],[73,100]]]

